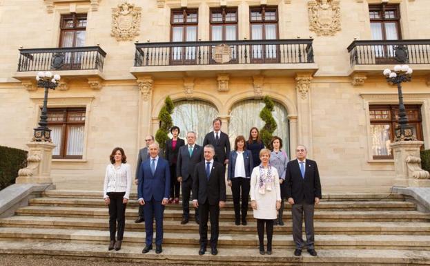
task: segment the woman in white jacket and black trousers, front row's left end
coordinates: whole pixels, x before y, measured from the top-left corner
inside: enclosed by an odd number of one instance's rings
[[[126,225],[126,206],[130,198],[131,168],[127,164],[126,153],[122,148],[113,149],[109,156],[110,164],[106,167],[103,184],[103,198],[109,206],[109,250],[121,249],[124,227]],[[118,236],[115,240],[118,222]]]

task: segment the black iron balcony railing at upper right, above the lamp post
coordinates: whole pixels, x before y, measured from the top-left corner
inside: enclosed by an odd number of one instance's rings
[[[430,64],[430,39],[353,41],[348,52],[351,66]]]

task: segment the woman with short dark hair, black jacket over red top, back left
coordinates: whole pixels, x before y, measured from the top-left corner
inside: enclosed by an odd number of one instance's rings
[[[179,148],[185,145],[185,141],[179,138],[180,132],[181,130],[177,126],[170,129],[173,137],[166,142],[166,156],[164,157],[170,165],[170,198],[168,203],[175,202],[175,204],[179,204],[179,189],[181,188],[181,183],[176,178],[177,153]]]

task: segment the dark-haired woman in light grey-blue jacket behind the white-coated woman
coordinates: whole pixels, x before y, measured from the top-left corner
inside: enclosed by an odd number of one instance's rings
[[[289,162],[288,155],[285,151],[282,151],[282,140],[280,137],[273,136],[271,140],[271,159],[269,163],[272,167],[275,167],[277,173],[280,176],[280,187],[281,187],[281,207],[277,213],[277,219],[273,220],[275,225],[284,225],[282,220],[282,214],[284,213],[284,199],[286,198],[286,182],[285,182],[285,171],[286,164]]]

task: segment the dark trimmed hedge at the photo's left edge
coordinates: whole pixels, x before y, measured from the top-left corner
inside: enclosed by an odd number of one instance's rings
[[[0,146],[0,190],[14,184],[19,169],[26,164],[27,151]]]

